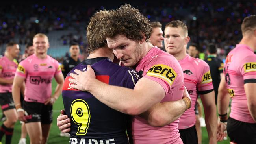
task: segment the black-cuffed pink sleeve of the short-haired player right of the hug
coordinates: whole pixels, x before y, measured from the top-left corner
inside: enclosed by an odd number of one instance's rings
[[[213,84],[211,79],[211,73],[210,73],[210,67],[209,65],[201,61],[200,67],[198,67],[198,84],[197,84],[197,90],[198,94],[207,94],[211,91],[213,91]]]

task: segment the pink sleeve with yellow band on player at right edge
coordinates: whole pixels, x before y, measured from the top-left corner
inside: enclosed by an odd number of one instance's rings
[[[256,83],[256,55],[249,55],[241,60],[239,71],[244,83]]]

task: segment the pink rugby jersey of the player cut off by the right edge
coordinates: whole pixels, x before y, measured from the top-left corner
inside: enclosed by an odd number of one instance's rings
[[[256,83],[256,55],[244,44],[237,44],[226,57],[224,74],[232,98],[230,117],[241,122],[256,123],[247,107],[243,85]]]

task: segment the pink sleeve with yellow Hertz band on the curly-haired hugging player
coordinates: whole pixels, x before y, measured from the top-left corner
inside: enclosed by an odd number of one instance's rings
[[[145,70],[147,74],[143,78],[148,78],[159,83],[166,94],[174,87],[174,83],[182,82],[179,81],[181,75],[184,83],[182,69],[174,57],[156,57],[150,61]]]

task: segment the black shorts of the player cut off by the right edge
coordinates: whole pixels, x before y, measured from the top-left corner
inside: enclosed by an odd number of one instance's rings
[[[228,118],[228,137],[236,144],[256,144],[256,124]]]

